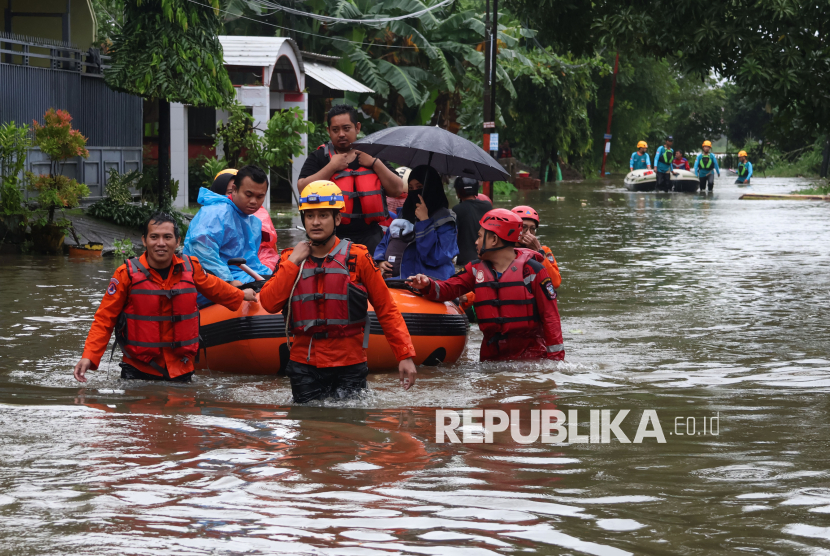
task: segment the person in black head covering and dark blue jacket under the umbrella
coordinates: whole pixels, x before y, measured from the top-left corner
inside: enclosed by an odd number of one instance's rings
[[[409,192],[400,215],[375,249],[384,278],[426,274],[446,280],[458,255],[455,213],[449,209],[438,171],[418,166],[409,174]]]

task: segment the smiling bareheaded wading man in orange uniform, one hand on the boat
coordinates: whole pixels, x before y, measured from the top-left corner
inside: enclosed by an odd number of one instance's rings
[[[98,368],[116,326],[124,351],[121,378],[189,382],[199,350],[196,293],[232,311],[243,300],[256,301],[252,290],[243,292],[207,274],[193,257],[176,256],[179,229],[169,215],[151,216],[141,241],[146,251],[118,267],[95,312],[75,365],[79,382]]]

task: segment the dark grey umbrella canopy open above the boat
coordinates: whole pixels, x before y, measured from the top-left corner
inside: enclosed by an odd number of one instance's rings
[[[390,127],[355,141],[352,148],[410,168],[428,164],[449,176],[479,181],[510,177],[481,147],[440,127]]]

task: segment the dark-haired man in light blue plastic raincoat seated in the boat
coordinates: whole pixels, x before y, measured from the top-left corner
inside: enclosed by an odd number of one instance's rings
[[[202,208],[190,223],[182,252],[198,258],[206,271],[235,286],[254,279],[238,267],[229,267],[230,259],[242,257],[257,274],[271,274],[257,255],[262,221],[254,216],[267,194],[268,177],[256,166],[245,166],[237,172],[230,197],[201,188]]]

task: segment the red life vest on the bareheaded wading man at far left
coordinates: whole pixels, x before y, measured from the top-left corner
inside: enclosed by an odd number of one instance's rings
[[[193,264],[188,256],[182,260],[181,279],[177,287],[170,290],[153,282],[150,271],[138,258],[127,260],[130,295],[116,326],[115,338],[124,354],[149,364],[166,377],[167,370],[153,361],[161,355],[162,348],[172,350],[180,358],[195,357],[199,352],[199,309]],[[162,297],[171,301],[172,312],[162,311]],[[162,340],[163,322],[173,323],[172,341]]]

